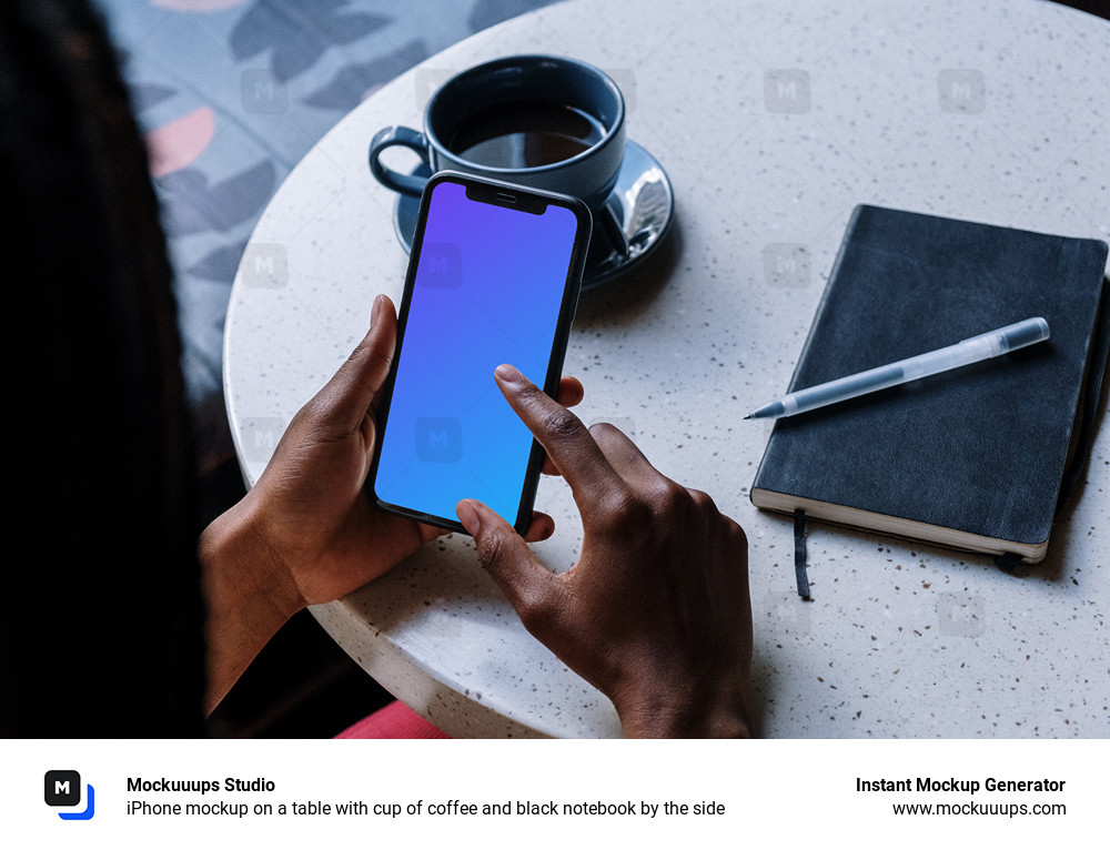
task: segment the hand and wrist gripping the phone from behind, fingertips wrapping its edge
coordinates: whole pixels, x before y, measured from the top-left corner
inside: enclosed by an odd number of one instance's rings
[[[446,534],[386,514],[363,490],[396,338],[393,302],[380,295],[366,336],[293,416],[254,487],[202,535],[210,705],[293,614],[362,587]],[[582,395],[577,380],[563,378],[564,404]],[[544,539],[554,527],[537,513],[526,537]]]

